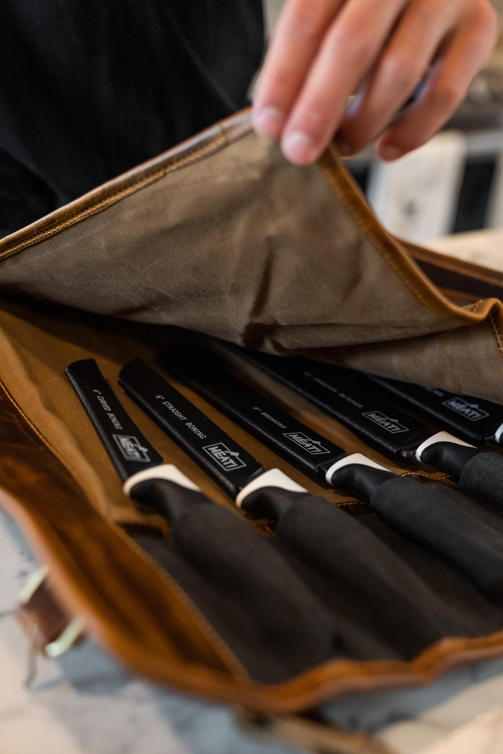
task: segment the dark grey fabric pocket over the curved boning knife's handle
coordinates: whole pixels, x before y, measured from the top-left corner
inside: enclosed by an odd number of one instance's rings
[[[136,541],[175,577],[256,681],[282,682],[340,656],[330,611],[267,538],[200,492],[161,484],[171,538],[144,534]]]

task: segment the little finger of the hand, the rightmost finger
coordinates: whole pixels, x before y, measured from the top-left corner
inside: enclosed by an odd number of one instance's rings
[[[380,158],[395,160],[417,149],[450,118],[492,51],[497,21],[491,10],[480,2],[465,17],[432,66],[419,100],[380,139]]]

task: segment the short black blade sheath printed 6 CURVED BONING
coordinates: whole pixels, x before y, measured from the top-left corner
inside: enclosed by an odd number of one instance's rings
[[[127,415],[94,359],[70,364],[66,376],[123,482],[138,471],[162,464],[162,456]]]

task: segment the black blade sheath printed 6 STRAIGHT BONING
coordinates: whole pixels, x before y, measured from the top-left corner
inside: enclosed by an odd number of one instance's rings
[[[142,359],[130,361],[119,384],[233,500],[264,467]]]

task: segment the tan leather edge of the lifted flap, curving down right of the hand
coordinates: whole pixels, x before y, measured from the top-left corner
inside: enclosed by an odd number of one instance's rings
[[[470,308],[456,306],[456,304],[450,302],[431,283],[431,280],[428,280],[428,277],[419,269],[404,245],[389,234],[376,219],[361,189],[340,161],[334,145],[327,149],[318,164],[337,198],[343,203],[376,250],[383,256],[383,259],[395,271],[395,274],[400,277],[401,281],[413,293],[413,296],[428,311],[447,320],[457,320],[462,325],[480,322],[486,319],[494,309],[498,311],[497,316],[503,323],[503,305],[499,299],[485,299],[481,302],[477,311],[473,311]],[[416,249],[419,250],[419,247],[416,247]]]

